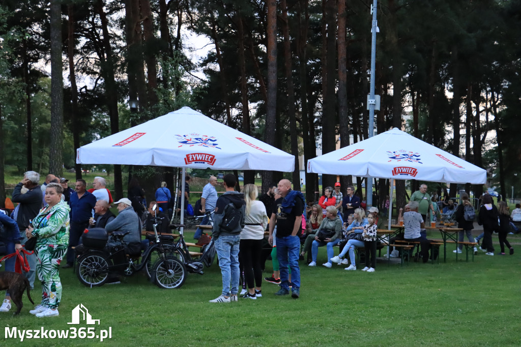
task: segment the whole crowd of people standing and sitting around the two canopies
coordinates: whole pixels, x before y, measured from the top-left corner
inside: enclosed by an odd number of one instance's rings
[[[317,203],[306,205],[303,194],[292,190],[291,182],[286,179],[271,184],[258,200],[254,184],[245,184],[243,191],[237,192],[234,175],[225,175],[223,180],[224,194],[217,196],[217,178],[211,176],[203,188],[201,199],[201,212],[214,211],[212,237],[222,275],[221,294],[210,302],[237,301],[241,278],[241,298],[255,300],[262,297],[262,253],[266,231],[269,234],[267,242],[271,247],[273,274],[265,280],[279,284],[276,295],[300,297],[299,261],[304,261],[307,255],[308,266],[317,266],[318,249],[322,246],[326,246],[327,254],[327,261],[322,264],[324,267],[331,268],[336,263],[348,265],[345,270],[356,270],[355,250],[364,249],[365,267],[362,271],[375,271],[377,230],[387,229],[384,216],[389,210],[388,198],[381,205],[381,213],[375,206],[366,213],[352,185],[346,188],[344,195],[337,182],[334,188],[325,188]],[[42,286],[42,301],[31,313],[37,317],[48,317],[58,315],[62,292],[60,264],[63,265],[61,268],[72,267],[74,248],[81,243],[85,228],[105,228],[107,232],[129,231],[124,240],[129,248],[135,246],[140,252],[147,246],[147,241],[141,240],[141,230],[152,231],[156,217],[168,219],[172,196],[166,183],[162,182],[155,193],[156,201],[148,203],[142,220],[141,207],[137,205],[143,204],[144,192],[137,181],[131,184],[129,198],[116,202],[113,202],[102,177],[95,177],[93,188],[89,190],[82,179],[75,182],[74,190],[68,187],[67,179],[58,179],[54,175],[47,175],[42,185],[39,181],[37,172],[27,171],[16,185],[11,199],[18,205],[10,216],[8,212],[0,213],[0,227],[3,229],[3,239],[0,241],[5,243],[6,252],[10,254],[35,238],[34,254],[28,256],[30,269],[24,275],[33,289],[37,273]],[[185,184],[188,185],[188,180]],[[190,188],[185,187],[185,190],[189,195]],[[511,222],[521,221],[521,205],[517,204],[510,214],[504,201],[499,202],[497,207],[490,195],[483,195],[477,218],[478,224],[483,226],[483,233],[475,239],[472,234],[474,206],[466,193],[461,194],[460,198],[459,205],[452,200],[446,200],[443,204],[443,212],[453,210],[457,226],[462,229],[458,240],[463,242],[466,237],[469,242],[478,242],[482,239],[479,248],[486,255],[494,255],[492,234],[498,232],[500,254],[505,254],[505,247],[508,253],[513,254],[514,249],[506,238]],[[116,205],[117,215],[110,211],[111,203]],[[156,205],[162,208],[155,209]],[[427,185],[420,185],[419,190],[411,195],[411,201],[399,211],[404,232],[389,242],[393,244],[400,239],[418,242],[420,252],[417,260],[421,258],[424,263],[436,257],[437,254],[433,254],[435,249],[431,249],[431,240],[427,239],[426,225],[440,211],[436,199],[427,193]],[[208,218],[205,216],[205,219]],[[206,222],[203,220],[201,224]],[[159,231],[171,232],[168,222],[161,224]],[[201,234],[202,230],[198,228],[195,239]],[[336,245],[339,246],[338,255],[334,255],[336,249],[333,247]],[[477,247],[474,251],[477,252]],[[398,256],[398,252],[392,250],[390,256]],[[454,252],[461,253],[462,244],[458,244]],[[14,271],[14,258],[6,261],[5,268]],[[118,283],[118,280],[115,278],[111,282]],[[8,312],[10,308],[10,295],[6,293],[0,312]]]

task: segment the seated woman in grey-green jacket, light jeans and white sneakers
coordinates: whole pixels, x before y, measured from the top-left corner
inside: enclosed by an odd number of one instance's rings
[[[333,246],[337,245],[342,239],[342,221],[340,217],[337,215],[337,208],[334,206],[328,206],[326,208],[326,218],[322,219],[320,223],[320,227],[318,227],[317,233],[315,234],[315,241],[311,244],[311,254],[313,258],[313,262],[309,263],[308,266],[316,266],[317,265],[317,254],[319,246],[327,246],[327,263],[322,264],[325,267],[331,267],[331,258],[334,255]],[[325,229],[331,232],[334,232],[333,236],[326,238],[324,240],[320,240],[318,238],[318,233],[320,230]]]

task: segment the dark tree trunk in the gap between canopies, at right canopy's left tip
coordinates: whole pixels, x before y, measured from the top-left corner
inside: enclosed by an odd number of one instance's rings
[[[314,182],[316,173],[307,172],[307,161],[316,157],[315,138],[309,134],[309,119],[313,118],[308,113],[307,103],[307,30],[309,23],[308,0],[300,0],[297,7],[298,29],[297,32],[297,55],[299,56],[299,79],[300,79],[300,104],[302,117],[302,141],[304,142],[304,171],[306,177],[306,201],[314,201]]]

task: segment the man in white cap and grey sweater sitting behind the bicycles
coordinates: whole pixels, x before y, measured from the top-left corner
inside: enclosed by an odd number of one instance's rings
[[[132,208],[132,202],[126,197],[123,197],[123,199],[116,201],[115,204],[117,205],[116,207],[119,214],[113,221],[107,223],[105,229],[107,232],[130,231],[130,233],[123,237],[123,240],[127,245],[130,245],[131,243],[141,244],[141,219]]]

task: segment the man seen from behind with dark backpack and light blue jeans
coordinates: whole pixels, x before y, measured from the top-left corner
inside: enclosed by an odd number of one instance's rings
[[[237,180],[234,175],[228,173],[223,180],[225,193],[217,199],[212,229],[221,268],[222,293],[210,302],[237,301],[239,292],[239,243],[240,233],[244,228],[246,202],[244,194],[235,191]]]

